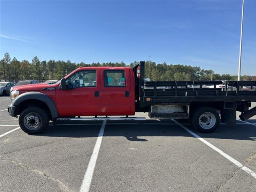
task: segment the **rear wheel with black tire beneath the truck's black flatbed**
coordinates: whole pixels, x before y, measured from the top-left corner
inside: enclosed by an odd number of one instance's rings
[[[210,107],[200,107],[194,111],[191,118],[192,126],[202,133],[211,133],[220,124],[218,111]]]

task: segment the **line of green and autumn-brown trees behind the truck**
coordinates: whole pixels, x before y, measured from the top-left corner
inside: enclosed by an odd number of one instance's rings
[[[152,81],[181,81],[181,80],[237,80],[238,76],[230,74],[216,74],[213,70],[204,70],[199,66],[187,66],[181,64],[156,64],[152,61],[145,62],[145,78],[148,78],[148,65],[150,62],[150,80]],[[15,57],[11,60],[10,54],[4,54],[0,60],[0,79],[17,80],[60,80],[73,70],[87,66],[111,66],[111,67],[133,67],[137,62],[130,64],[124,62],[73,63],[70,60],[43,60],[37,56],[32,59],[18,61]],[[254,80],[256,76],[242,76],[242,80]]]

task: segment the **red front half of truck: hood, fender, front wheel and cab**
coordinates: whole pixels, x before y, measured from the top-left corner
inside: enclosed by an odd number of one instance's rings
[[[10,100],[8,113],[20,115],[27,133],[40,132],[56,118],[134,115],[134,73],[126,67],[82,67],[56,84],[15,86]]]

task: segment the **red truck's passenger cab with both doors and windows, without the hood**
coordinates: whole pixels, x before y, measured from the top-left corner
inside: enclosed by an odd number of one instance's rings
[[[135,87],[131,68],[78,68],[65,77],[66,89],[56,85],[60,117],[134,115]]]

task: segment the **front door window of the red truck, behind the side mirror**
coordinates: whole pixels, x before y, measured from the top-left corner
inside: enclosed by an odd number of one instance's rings
[[[96,87],[96,70],[81,70],[66,79],[67,89]]]

